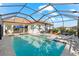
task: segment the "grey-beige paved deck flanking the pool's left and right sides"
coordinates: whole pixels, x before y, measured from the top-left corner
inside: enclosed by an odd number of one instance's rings
[[[12,49],[12,42],[13,42],[13,39],[11,39],[12,37],[13,36],[4,36],[3,39],[0,40],[0,56],[15,56],[15,53]],[[66,45],[61,56],[75,56],[75,55],[69,52],[68,46]]]

